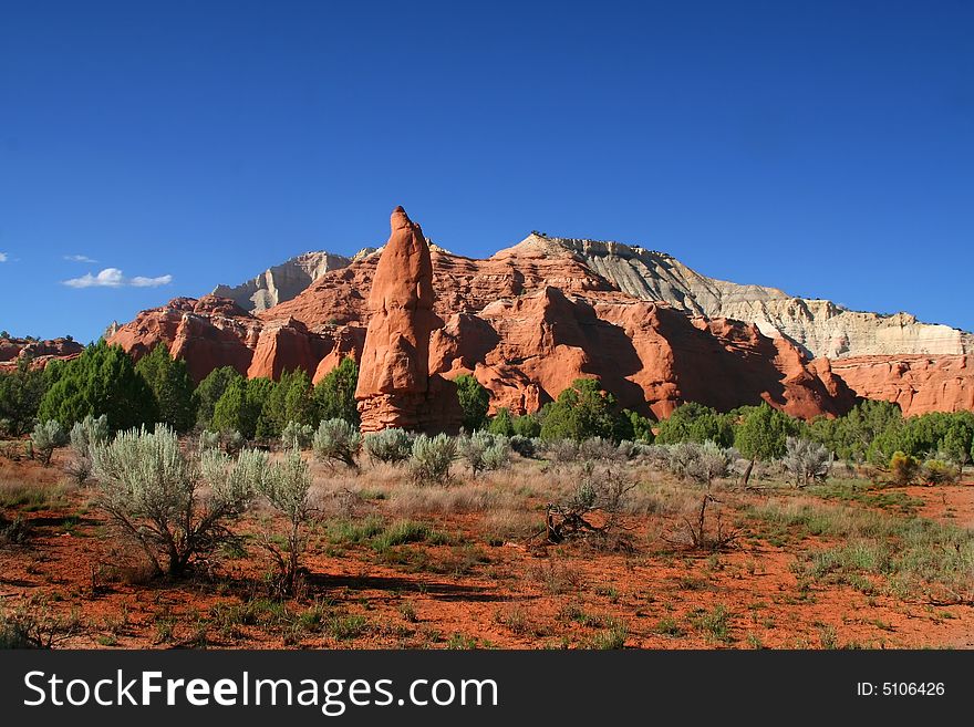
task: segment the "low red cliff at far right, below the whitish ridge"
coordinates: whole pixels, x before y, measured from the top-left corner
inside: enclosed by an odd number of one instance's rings
[[[895,402],[904,416],[974,409],[971,355],[853,356],[831,367],[859,396]]]

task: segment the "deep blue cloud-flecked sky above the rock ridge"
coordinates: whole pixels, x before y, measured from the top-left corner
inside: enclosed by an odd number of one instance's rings
[[[583,4],[3,3],[0,329],[90,340],[402,204],[974,330],[974,3]]]

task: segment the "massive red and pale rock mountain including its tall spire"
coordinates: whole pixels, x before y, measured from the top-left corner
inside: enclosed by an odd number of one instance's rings
[[[656,417],[685,401],[725,411],[767,401],[808,418],[841,414],[857,394],[905,403],[908,413],[974,408],[966,363],[940,355],[810,361],[807,349],[821,341],[796,344],[766,322],[717,314],[746,305],[805,321],[811,328],[799,329],[823,332],[832,353],[848,353],[856,335],[854,345],[882,350],[966,345],[963,336],[939,339],[945,326],[924,337],[928,329],[909,316],[723,283],[663,253],[615,243],[532,236],[474,260],[431,247],[398,211],[386,248],[323,273],[293,300],[249,314],[225,299],[177,299],[118,328],[112,342],[141,355],[166,341],[196,378],[232,365],[272,377],[300,367],[318,382],[352,355],[361,360],[366,429],[452,420],[453,413],[434,411],[449,397],[431,391],[448,387],[437,376],[460,373],[490,391],[494,412],[535,412],[579,376],[601,378],[623,406]],[[872,339],[842,339],[851,331],[842,321],[860,315],[881,319],[863,319]],[[835,340],[821,321],[838,321]]]

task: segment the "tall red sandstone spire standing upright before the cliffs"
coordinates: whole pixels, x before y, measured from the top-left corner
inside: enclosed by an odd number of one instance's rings
[[[388,427],[452,430],[460,411],[452,382],[429,376],[429,336],[443,326],[433,312],[433,261],[423,230],[402,207],[382,251],[372,291],[355,398],[363,432]]]

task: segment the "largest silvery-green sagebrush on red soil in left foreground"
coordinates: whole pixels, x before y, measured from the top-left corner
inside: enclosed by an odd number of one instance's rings
[[[232,538],[228,526],[250,499],[249,480],[259,476],[256,454],[241,453],[232,474],[222,475],[215,459],[222,455],[209,450],[201,477],[200,465],[183,454],[166,425],[152,433],[122,432],[111,443],[93,445],[91,455],[96,507],[142,548],[156,573],[170,577],[183,575],[194,559],[207,558]]]

